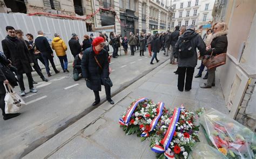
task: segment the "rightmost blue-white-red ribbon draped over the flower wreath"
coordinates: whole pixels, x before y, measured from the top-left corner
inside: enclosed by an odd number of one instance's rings
[[[172,155],[167,153],[166,150],[168,149],[168,147],[169,147],[169,145],[172,141],[172,137],[173,137],[173,134],[174,134],[175,129],[176,129],[176,123],[179,120],[179,114],[180,114],[180,108],[175,108],[173,110],[172,119],[171,119],[170,125],[167,129],[167,132],[165,134],[165,137],[160,142],[164,147],[156,145],[153,148],[151,148],[152,151],[154,151],[156,153],[165,153],[165,156],[167,158],[172,158]]]

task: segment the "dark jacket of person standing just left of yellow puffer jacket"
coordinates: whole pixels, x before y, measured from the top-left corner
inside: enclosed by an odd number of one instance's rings
[[[35,46],[36,46],[36,49],[39,50],[42,54],[53,53],[48,40],[44,36],[38,36],[35,39]]]

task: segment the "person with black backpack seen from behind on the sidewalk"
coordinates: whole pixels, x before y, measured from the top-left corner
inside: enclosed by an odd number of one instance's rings
[[[186,84],[185,91],[190,91],[194,74],[194,67],[197,66],[197,48],[200,51],[200,56],[204,56],[206,45],[201,36],[196,33],[194,25],[188,26],[184,34],[178,39],[175,45],[175,51],[178,54],[178,90],[183,92],[185,75]]]

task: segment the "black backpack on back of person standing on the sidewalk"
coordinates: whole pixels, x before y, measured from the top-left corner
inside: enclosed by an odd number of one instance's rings
[[[185,59],[190,58],[194,55],[194,49],[191,43],[191,39],[181,40],[178,44],[179,58]]]

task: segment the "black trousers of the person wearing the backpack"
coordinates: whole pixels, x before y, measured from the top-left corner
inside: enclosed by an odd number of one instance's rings
[[[185,89],[189,91],[192,86],[192,79],[194,74],[194,67],[179,67],[178,69],[178,89],[179,91],[183,91],[184,89],[184,81],[186,75],[186,84]]]

